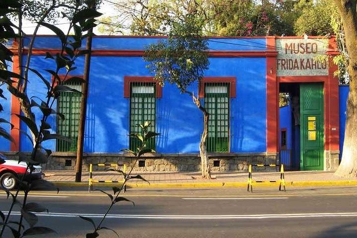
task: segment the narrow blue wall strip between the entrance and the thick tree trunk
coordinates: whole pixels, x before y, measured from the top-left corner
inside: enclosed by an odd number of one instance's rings
[[[347,110],[347,97],[350,91],[350,87],[339,87],[339,100],[340,100],[340,161],[343,152],[343,143],[345,139],[345,126],[346,126],[346,110]]]

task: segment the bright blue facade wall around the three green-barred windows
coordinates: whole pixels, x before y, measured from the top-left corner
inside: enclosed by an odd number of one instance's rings
[[[142,50],[144,45],[156,42],[157,38],[94,38],[94,49]],[[264,50],[265,39],[213,39],[212,50]],[[225,44],[228,42],[233,44]],[[35,48],[58,46],[55,37],[40,37]],[[237,44],[237,45],[234,45]],[[245,45],[245,46],[243,46]],[[258,49],[257,49],[258,47]],[[24,59],[25,60],[25,59]],[[230,101],[230,143],[231,152],[266,151],[266,59],[225,57],[210,58],[205,76],[234,76],[237,78],[237,97]],[[83,74],[84,58],[76,61],[77,69],[72,75]],[[150,76],[142,57],[92,56],[87,119],[85,129],[85,152],[119,152],[128,147],[129,99],[123,97],[124,76]],[[46,75],[44,69],[54,69],[53,61],[44,56],[33,56],[30,67]],[[64,72],[62,72],[64,73]],[[45,100],[46,87],[34,73],[29,75],[28,95]],[[197,84],[191,86],[197,91]],[[54,107],[57,105],[55,103]],[[39,122],[41,113],[34,109]],[[157,99],[156,128],[161,135],[156,150],[160,153],[195,153],[202,132],[201,112],[188,95],[180,94],[173,85],[165,85],[163,96]],[[56,117],[48,122],[56,132]],[[22,123],[21,129],[28,130]],[[29,131],[28,131],[29,132]],[[31,142],[21,135],[20,149],[30,151]],[[55,150],[56,141],[46,141],[46,148]],[[5,150],[6,148],[4,148]],[[8,150],[8,149],[6,149]]]

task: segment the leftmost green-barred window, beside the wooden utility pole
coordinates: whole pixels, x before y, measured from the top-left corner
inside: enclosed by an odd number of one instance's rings
[[[82,91],[80,82],[63,82],[63,85]],[[58,112],[64,115],[64,120],[57,119],[58,134],[72,139],[72,143],[57,140],[57,151],[77,151],[78,124],[80,115],[81,94],[77,92],[61,92],[58,99]]]

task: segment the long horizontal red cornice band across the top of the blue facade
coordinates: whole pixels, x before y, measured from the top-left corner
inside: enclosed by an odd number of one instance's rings
[[[49,52],[53,55],[60,53],[56,49],[34,49],[32,55],[46,55]],[[13,52],[15,53],[15,52]],[[24,49],[23,54],[27,54],[28,49]],[[93,50],[92,56],[144,56],[143,50]],[[210,57],[269,57],[277,56],[277,51],[209,51]]]

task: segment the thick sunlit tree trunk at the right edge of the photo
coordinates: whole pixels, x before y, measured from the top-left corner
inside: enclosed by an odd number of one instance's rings
[[[357,12],[356,0],[335,0],[341,14],[349,56],[350,94],[347,100],[342,161],[335,175],[357,176]]]

